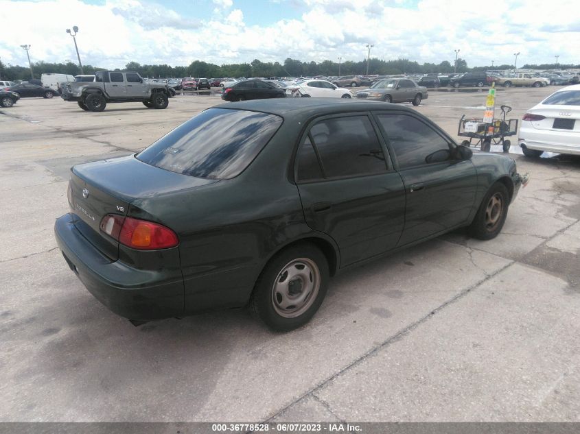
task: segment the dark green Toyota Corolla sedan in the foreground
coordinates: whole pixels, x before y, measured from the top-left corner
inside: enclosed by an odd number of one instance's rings
[[[55,232],[93,296],[134,322],[250,306],[291,330],[343,269],[461,226],[496,237],[522,181],[410,108],[246,101],[73,167]]]

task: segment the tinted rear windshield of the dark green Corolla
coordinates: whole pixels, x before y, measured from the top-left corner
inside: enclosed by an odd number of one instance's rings
[[[210,108],[179,125],[137,159],[196,178],[233,178],[254,160],[278,130],[274,114]]]

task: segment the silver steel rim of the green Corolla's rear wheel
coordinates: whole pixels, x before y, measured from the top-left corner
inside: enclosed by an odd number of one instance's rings
[[[282,317],[295,318],[312,306],[320,289],[320,271],[308,258],[294,259],[279,272],[272,285],[272,304]]]

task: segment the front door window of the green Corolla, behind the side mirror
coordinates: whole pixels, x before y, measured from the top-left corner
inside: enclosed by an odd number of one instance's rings
[[[378,114],[399,169],[443,162],[451,159],[448,141],[433,128],[407,114]]]

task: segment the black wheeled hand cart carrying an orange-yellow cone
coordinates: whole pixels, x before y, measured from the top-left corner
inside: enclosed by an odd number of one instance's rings
[[[491,143],[502,145],[503,152],[508,152],[511,142],[506,140],[507,136],[515,136],[518,133],[518,119],[508,119],[505,115],[511,112],[510,106],[501,106],[502,118],[494,119],[492,122],[484,122],[483,119],[465,119],[465,114],[459,121],[457,135],[469,137],[461,145],[467,147],[480,147],[483,152],[489,152]]]

